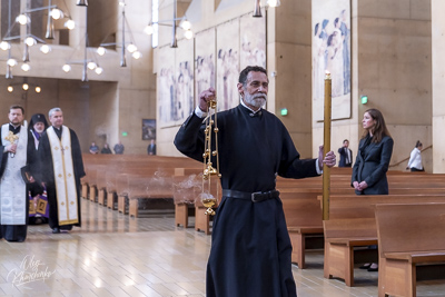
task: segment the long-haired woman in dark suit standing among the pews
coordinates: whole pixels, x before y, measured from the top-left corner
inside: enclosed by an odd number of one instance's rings
[[[393,155],[394,140],[386,128],[382,112],[377,109],[366,110],[362,123],[365,131],[353,167],[352,186],[357,195],[388,195],[386,171]],[[377,271],[378,265],[365,264],[360,268]]]

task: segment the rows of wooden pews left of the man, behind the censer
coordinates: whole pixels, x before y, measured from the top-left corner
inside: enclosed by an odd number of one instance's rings
[[[176,226],[210,234],[210,217],[199,195],[202,164],[185,157],[137,155],[83,155],[87,176],[81,179],[81,197],[130,217],[175,214]],[[220,199],[218,180],[210,192]]]

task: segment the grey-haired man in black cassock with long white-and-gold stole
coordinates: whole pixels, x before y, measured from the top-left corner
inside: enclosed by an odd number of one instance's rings
[[[41,180],[47,187],[49,226],[53,234],[80,227],[80,178],[85,176],[79,139],[63,126],[58,107],[49,111],[49,127],[40,138]]]

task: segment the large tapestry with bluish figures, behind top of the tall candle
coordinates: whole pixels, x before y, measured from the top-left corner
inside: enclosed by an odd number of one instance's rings
[[[350,118],[350,0],[313,1],[313,116],[324,118],[325,73],[332,77],[332,119]]]

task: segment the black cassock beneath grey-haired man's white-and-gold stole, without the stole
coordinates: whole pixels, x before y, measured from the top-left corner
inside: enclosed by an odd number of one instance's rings
[[[62,129],[56,129],[52,126],[48,129],[55,129],[56,135],[61,137]],[[83,170],[83,161],[82,161],[82,152],[79,145],[79,139],[73,130],[69,129],[70,137],[71,137],[71,157],[72,157],[72,166],[75,169],[75,179],[76,179],[76,188],[77,188],[77,206],[78,206],[78,214],[79,214],[79,222],[73,225],[63,225],[59,226],[59,215],[57,209],[57,192],[56,192],[56,184],[55,184],[55,169],[52,165],[52,154],[51,147],[49,143],[49,138],[47,131],[42,133],[40,137],[39,142],[39,161],[40,161],[40,179],[47,186],[47,194],[48,194],[48,204],[49,204],[49,227],[60,228],[70,230],[72,226],[80,227],[80,178],[85,176]]]

